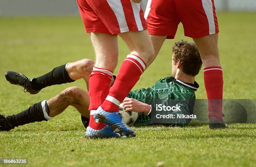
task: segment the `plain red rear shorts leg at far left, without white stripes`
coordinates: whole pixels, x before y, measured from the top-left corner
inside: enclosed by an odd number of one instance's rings
[[[86,32],[110,33],[108,28],[86,0],[77,0],[77,6]]]

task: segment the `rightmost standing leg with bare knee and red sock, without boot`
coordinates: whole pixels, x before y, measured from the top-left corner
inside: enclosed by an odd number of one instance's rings
[[[204,81],[209,120],[222,120],[223,72],[218,53],[218,34],[194,38],[204,63]],[[211,125],[211,124],[210,124]]]

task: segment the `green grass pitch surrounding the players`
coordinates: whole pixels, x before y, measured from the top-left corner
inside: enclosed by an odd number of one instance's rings
[[[218,18],[224,98],[256,99],[256,13],[218,13]],[[172,44],[181,39],[192,41],[184,37],[182,26],[174,40],[166,40],[135,89],[171,74]],[[121,40],[119,45],[120,65],[128,49]],[[28,95],[5,80],[5,71],[36,77],[85,57],[93,59],[94,51],[79,16],[0,17],[0,114],[18,113],[70,86],[85,89],[78,80]],[[202,71],[196,80],[201,85],[197,99],[205,99]],[[207,125],[134,129],[137,136],[131,139],[86,139],[79,113],[69,107],[49,122],[0,132],[0,158],[28,158],[29,167],[156,167],[161,161],[164,167],[256,166],[255,124],[231,124],[225,130]]]

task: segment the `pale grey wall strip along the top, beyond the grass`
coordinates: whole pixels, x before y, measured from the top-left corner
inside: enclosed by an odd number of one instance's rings
[[[147,0],[143,0],[146,3]],[[217,10],[256,11],[256,0],[215,0]],[[0,0],[0,15],[73,15],[75,0]]]

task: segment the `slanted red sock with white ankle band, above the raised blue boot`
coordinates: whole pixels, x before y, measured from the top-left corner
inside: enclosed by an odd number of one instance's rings
[[[123,61],[114,85],[110,88],[109,94],[101,107],[108,112],[118,112],[120,102],[124,100],[138,82],[145,69],[146,63],[140,57],[128,55]]]

